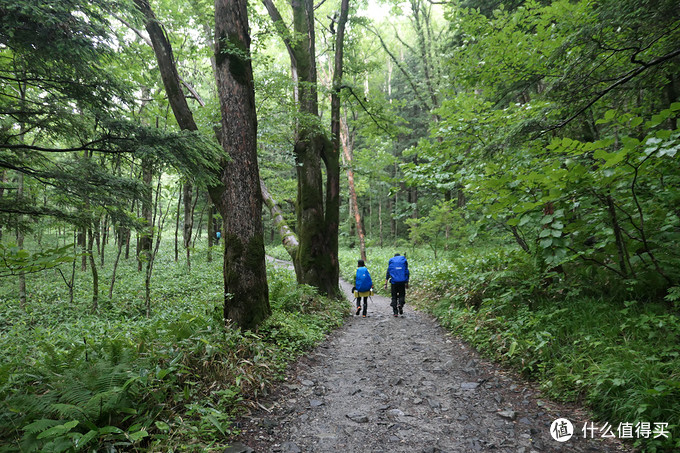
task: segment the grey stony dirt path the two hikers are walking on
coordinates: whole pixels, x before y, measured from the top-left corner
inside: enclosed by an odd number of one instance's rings
[[[342,288],[350,298],[350,285]],[[284,383],[259,401],[263,410],[239,421],[242,434],[226,451],[632,451],[603,438],[602,424],[584,438],[584,424],[593,426],[585,410],[543,398],[535,384],[415,312],[408,291],[406,302],[398,318],[377,295],[368,317],[352,313],[289,367]],[[550,434],[558,418],[573,423],[566,442]]]

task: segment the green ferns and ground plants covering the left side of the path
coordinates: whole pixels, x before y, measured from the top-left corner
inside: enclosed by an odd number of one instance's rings
[[[273,315],[242,332],[222,319],[219,250],[213,262],[194,250],[190,269],[164,252],[148,318],[132,257],[96,312],[88,272],[77,272],[72,304],[56,271],[28,276],[25,310],[16,282],[2,281],[0,451],[223,450],[235,418],[347,313],[268,266]]]

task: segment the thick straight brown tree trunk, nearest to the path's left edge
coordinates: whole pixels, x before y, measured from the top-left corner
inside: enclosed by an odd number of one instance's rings
[[[215,0],[217,91],[222,146],[222,195],[213,202],[223,217],[224,317],[252,329],[271,314],[264,254],[262,195],[257,164],[257,114],[250,60],[247,0]]]

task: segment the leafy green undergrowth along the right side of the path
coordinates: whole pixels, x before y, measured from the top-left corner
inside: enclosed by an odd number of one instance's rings
[[[584,279],[585,287],[574,269],[566,279],[542,275],[515,251],[409,265],[421,307],[483,354],[536,379],[550,397],[585,402],[614,427],[668,423],[669,439],[635,445],[678,451],[680,320],[669,303],[636,297],[635,285],[608,277]]]

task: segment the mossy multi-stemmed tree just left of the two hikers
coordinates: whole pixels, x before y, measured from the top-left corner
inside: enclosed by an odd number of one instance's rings
[[[317,91],[316,39],[314,3],[311,0],[291,0],[293,30],[288,29],[272,0],[263,0],[276,30],[290,57],[295,83],[295,102],[300,110],[297,123],[295,154],[297,171],[297,234],[299,247],[298,281],[318,288],[322,293],[338,294],[338,223],[340,217],[340,102],[342,56],[345,24],[349,11],[343,0],[340,14],[333,19],[335,35],[335,73],[331,100],[332,138],[319,123]],[[337,23],[335,23],[337,21]],[[326,169],[322,182],[321,162]]]

